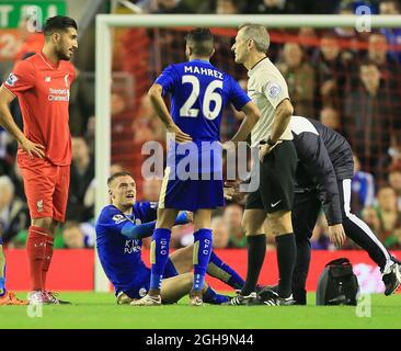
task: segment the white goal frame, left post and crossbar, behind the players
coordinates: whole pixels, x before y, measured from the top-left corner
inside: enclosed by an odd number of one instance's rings
[[[99,14],[95,39],[95,218],[108,203],[106,180],[111,163],[111,88],[113,27],[237,27],[252,22],[267,29],[310,26],[330,29],[347,26],[362,29],[401,27],[401,15],[370,15],[363,7],[360,15],[217,15],[217,14]],[[95,256],[95,291],[108,291],[108,281]]]

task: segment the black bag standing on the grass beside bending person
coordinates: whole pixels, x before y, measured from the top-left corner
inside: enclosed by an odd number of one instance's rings
[[[325,264],[325,268],[319,278],[316,292],[316,304],[317,306],[356,306],[358,292],[358,281],[353,272],[350,260],[341,258]]]

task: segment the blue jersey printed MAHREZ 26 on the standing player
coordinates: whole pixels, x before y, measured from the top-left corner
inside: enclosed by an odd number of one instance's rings
[[[156,80],[171,93],[171,115],[181,131],[196,140],[219,140],[225,106],[241,110],[251,99],[228,73],[209,61],[194,59],[170,65]]]

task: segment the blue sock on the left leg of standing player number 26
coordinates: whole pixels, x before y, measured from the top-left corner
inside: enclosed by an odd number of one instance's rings
[[[157,228],[150,246],[150,288],[160,290],[165,263],[169,259],[171,229]]]

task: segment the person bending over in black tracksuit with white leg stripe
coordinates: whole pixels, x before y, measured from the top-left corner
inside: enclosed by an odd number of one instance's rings
[[[293,273],[293,295],[306,305],[305,290],[309,262],[310,238],[323,207],[329,236],[341,244],[341,226],[345,235],[366,250],[380,267],[386,295],[401,283],[401,267],[389,254],[370,228],[351,213],[351,180],[354,174],[353,154],[347,140],[316,120],[291,116],[291,133],[299,163],[293,207],[293,227],[297,244],[297,261]]]

